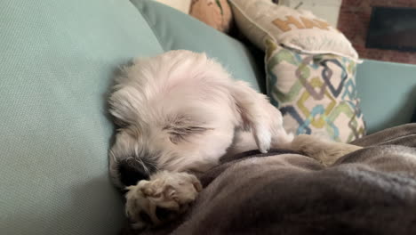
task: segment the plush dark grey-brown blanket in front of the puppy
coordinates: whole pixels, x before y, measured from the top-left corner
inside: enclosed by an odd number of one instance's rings
[[[188,214],[142,234],[416,234],[416,124],[353,143],[326,168],[285,150],[222,159]]]

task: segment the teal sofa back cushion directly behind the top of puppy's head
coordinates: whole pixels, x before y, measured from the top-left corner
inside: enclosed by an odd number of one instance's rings
[[[233,77],[260,91],[259,82],[264,77],[242,43],[164,4],[151,0],[132,0],[132,4],[148,20],[164,51],[186,49],[207,53],[220,61]]]

